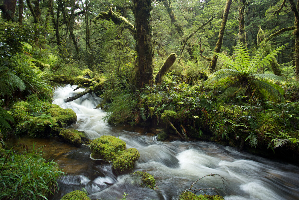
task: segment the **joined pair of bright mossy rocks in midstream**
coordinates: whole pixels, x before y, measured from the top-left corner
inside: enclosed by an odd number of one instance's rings
[[[135,148],[126,149],[126,142],[114,136],[101,136],[90,143],[91,157],[112,162],[114,172],[122,173],[133,169],[140,154]]]

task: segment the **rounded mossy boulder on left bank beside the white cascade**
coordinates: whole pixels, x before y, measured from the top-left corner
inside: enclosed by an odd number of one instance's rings
[[[77,121],[77,115],[72,109],[63,109],[63,108],[51,108],[46,111],[50,113],[53,118],[57,121],[60,120],[63,124],[70,125]]]

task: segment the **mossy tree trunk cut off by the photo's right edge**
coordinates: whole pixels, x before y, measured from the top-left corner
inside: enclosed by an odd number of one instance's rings
[[[294,0],[289,0],[291,4],[291,9],[295,15],[295,30],[293,34],[295,35],[295,68],[296,68],[296,80],[299,81],[299,1],[297,1],[297,5]]]

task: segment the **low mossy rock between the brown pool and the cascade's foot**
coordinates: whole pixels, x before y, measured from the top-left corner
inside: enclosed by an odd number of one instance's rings
[[[89,140],[84,133],[70,129],[61,129],[59,136],[62,136],[63,139],[76,146],[82,145],[83,141]]]

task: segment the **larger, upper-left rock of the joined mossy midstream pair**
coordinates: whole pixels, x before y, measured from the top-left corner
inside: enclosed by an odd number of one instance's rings
[[[126,149],[126,142],[114,136],[101,136],[90,143],[91,157],[114,161],[120,151]]]

